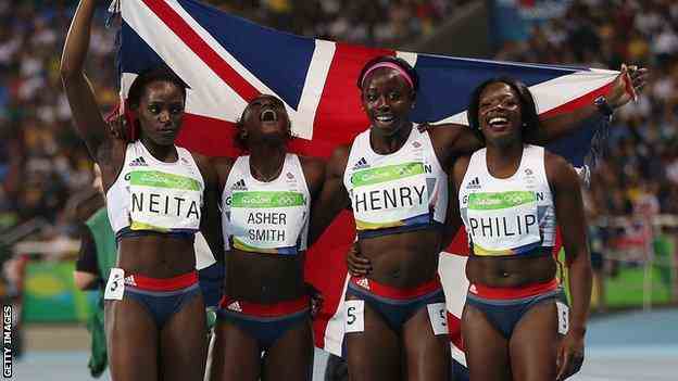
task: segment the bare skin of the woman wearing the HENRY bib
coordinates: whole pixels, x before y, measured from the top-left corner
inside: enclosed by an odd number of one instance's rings
[[[626,68],[615,80],[611,92],[607,94],[608,103],[613,107],[620,106],[630,100],[630,96],[626,92],[624,76],[626,76]],[[631,73],[632,84],[637,88],[643,86],[645,77],[646,72],[644,69],[635,69]],[[380,154],[393,153],[404,144],[412,129],[412,123],[409,120],[407,114],[414,106],[415,92],[395,71],[390,68],[378,68],[372,72],[364,79],[363,84],[362,103],[372,123],[372,148]],[[579,123],[591,117],[598,117],[598,110],[594,105],[581,107],[573,113],[542,119],[541,123],[544,128],[536,130],[533,136],[525,137],[526,141],[532,143],[553,141],[573,131]],[[434,151],[443,168],[452,168],[459,156],[482,148],[482,142],[466,126],[445,125],[444,127],[447,128],[429,130]],[[350,205],[348,192],[343,187],[343,173],[347,168],[349,153],[350,147],[340,147],[334,152],[327,164],[323,191],[312,212],[311,241],[317,239],[337,214]],[[364,258],[357,259],[357,256],[349,255],[349,267],[353,267],[353,275],[365,275],[369,279],[395,288],[410,288],[422,284],[435,276],[438,269],[438,254],[452,239],[452,234],[450,234],[452,229],[456,230],[459,226],[460,219],[455,217],[448,218],[447,228],[442,231],[419,230],[371,239],[359,239],[356,251]],[[415,319],[413,318],[412,320]],[[368,306],[365,306],[365,327],[364,333],[348,335],[349,369],[352,379],[368,380],[374,377],[384,377],[384,374],[389,374],[389,378],[394,377],[391,374],[392,364],[398,358],[395,353],[399,350],[399,344],[394,340],[394,333],[384,325],[381,318]],[[419,328],[424,329],[423,326],[419,326]],[[375,330],[376,335],[389,336],[390,339],[388,341],[385,340],[382,345],[378,344],[378,341],[369,340],[367,336],[369,334],[367,333],[368,330]],[[357,340],[354,338],[357,338]],[[436,338],[417,340],[434,341]],[[406,358],[409,379],[418,380],[444,377],[442,376],[445,372],[445,370],[442,370],[443,366],[439,367],[438,373],[432,376],[430,373],[416,374],[410,369],[426,368],[431,372],[436,372],[435,366],[431,367],[426,364],[427,361],[445,364],[444,360],[437,361],[438,357],[436,357],[441,353],[447,356],[449,344],[447,342],[443,344],[445,340],[447,338],[440,340],[440,351],[434,351],[430,355],[418,356],[418,360],[416,358],[413,359],[415,364],[412,366],[410,364],[411,357]],[[411,344],[411,342],[404,341],[405,347],[409,347]],[[406,351],[406,353],[420,354],[416,350]],[[365,357],[369,357],[371,361],[361,360],[361,358]]]

